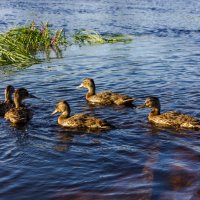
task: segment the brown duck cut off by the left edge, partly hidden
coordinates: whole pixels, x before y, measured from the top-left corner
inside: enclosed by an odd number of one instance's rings
[[[12,95],[15,92],[15,88],[12,85],[8,85],[5,89],[5,99],[0,101],[0,116],[4,117],[5,113],[11,108],[14,108],[14,101],[12,100]]]

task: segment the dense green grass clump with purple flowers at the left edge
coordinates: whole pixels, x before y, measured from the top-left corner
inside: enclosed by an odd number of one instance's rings
[[[36,27],[33,21],[30,26],[0,34],[0,65],[29,66],[40,61],[38,51],[60,52],[59,45],[63,44],[67,44],[63,30],[51,31],[48,22]]]

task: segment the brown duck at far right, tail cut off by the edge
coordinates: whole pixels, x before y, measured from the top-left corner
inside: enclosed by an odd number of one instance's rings
[[[151,108],[148,120],[158,126],[184,129],[200,129],[200,120],[179,112],[166,112],[160,114],[160,101],[157,97],[148,97],[145,103],[138,108]]]

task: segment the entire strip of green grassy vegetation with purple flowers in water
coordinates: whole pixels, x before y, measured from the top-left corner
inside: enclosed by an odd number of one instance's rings
[[[62,57],[61,48],[70,45],[96,45],[105,43],[131,42],[132,36],[122,34],[99,34],[94,30],[78,30],[72,36],[65,37],[62,30],[50,30],[49,23],[30,25],[10,29],[0,33],[0,66],[11,65],[27,67],[42,62],[37,55],[45,53],[50,59],[50,52]]]

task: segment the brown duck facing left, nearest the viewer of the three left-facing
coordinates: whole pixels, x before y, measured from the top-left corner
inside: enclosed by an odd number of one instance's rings
[[[70,106],[67,101],[60,101],[56,104],[56,108],[51,115],[62,113],[58,117],[58,124],[68,128],[82,128],[82,129],[110,129],[111,125],[102,119],[89,116],[87,114],[76,114],[70,117]]]

